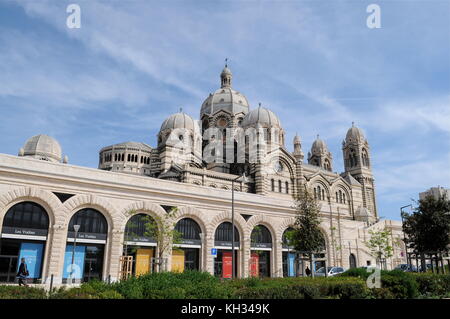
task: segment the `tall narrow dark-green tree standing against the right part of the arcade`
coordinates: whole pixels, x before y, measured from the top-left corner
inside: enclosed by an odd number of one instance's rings
[[[319,206],[314,196],[306,189],[294,196],[295,224],[291,232],[291,245],[297,252],[309,257],[314,276],[312,259],[315,253],[325,250],[325,240],[320,229]]]

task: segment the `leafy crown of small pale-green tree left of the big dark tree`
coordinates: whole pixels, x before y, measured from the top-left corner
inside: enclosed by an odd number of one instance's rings
[[[394,248],[391,242],[391,231],[387,228],[382,230],[369,230],[370,239],[364,244],[369,248],[370,253],[375,257],[377,265],[382,267],[383,260],[393,256]],[[385,267],[383,267],[385,268]]]

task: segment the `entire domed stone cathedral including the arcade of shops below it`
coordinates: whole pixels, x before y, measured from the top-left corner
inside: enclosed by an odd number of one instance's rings
[[[304,261],[286,237],[301,187],[320,207],[324,251],[314,270],[375,264],[365,245],[370,230],[390,229],[392,242],[402,233],[401,223],[379,218],[362,130],[352,124],[343,132],[344,168],[337,173],[325,141],[317,136],[305,159],[296,135],[290,152],[282,121],[266,107],[251,107],[232,80],[225,65],[198,120],[180,110],[163,121],[155,146],[103,147],[98,169],[69,164],[58,141],[44,134],[26,141],[18,156],[0,154],[0,282],[14,281],[21,258],[42,284],[155,271],[160,247],[144,220],[169,212],[181,239],[163,253],[167,270],[301,276]],[[404,247],[394,246],[385,264],[394,268],[404,259]]]

